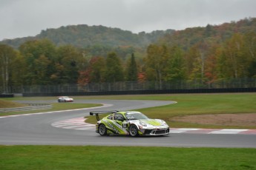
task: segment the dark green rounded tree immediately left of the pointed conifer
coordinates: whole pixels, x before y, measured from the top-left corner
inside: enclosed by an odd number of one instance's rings
[[[106,58],[105,80],[107,82],[116,82],[124,80],[124,73],[120,58],[115,52],[108,53]]]

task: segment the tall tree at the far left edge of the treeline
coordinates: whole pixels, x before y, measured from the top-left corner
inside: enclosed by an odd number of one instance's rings
[[[11,64],[15,60],[17,52],[12,47],[0,44],[0,73],[3,92],[9,92],[10,75],[12,72]]]

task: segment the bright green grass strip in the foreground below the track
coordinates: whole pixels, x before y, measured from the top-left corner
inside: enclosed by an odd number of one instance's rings
[[[256,169],[256,149],[0,146],[0,169]]]

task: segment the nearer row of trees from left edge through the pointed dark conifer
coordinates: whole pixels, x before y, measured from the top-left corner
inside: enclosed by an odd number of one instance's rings
[[[8,86],[136,81],[138,73],[134,55],[125,64],[116,52],[91,57],[85,50],[56,47],[47,39],[27,41],[19,50],[1,44],[0,59],[4,92]]]

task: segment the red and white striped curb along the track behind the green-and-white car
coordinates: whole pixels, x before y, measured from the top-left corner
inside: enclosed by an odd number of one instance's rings
[[[73,118],[62,120],[51,124],[54,127],[63,129],[76,130],[95,130],[95,125],[85,123],[85,118]],[[171,128],[170,133],[186,133],[186,134],[243,134],[256,135],[256,129],[186,129],[186,128]]]

